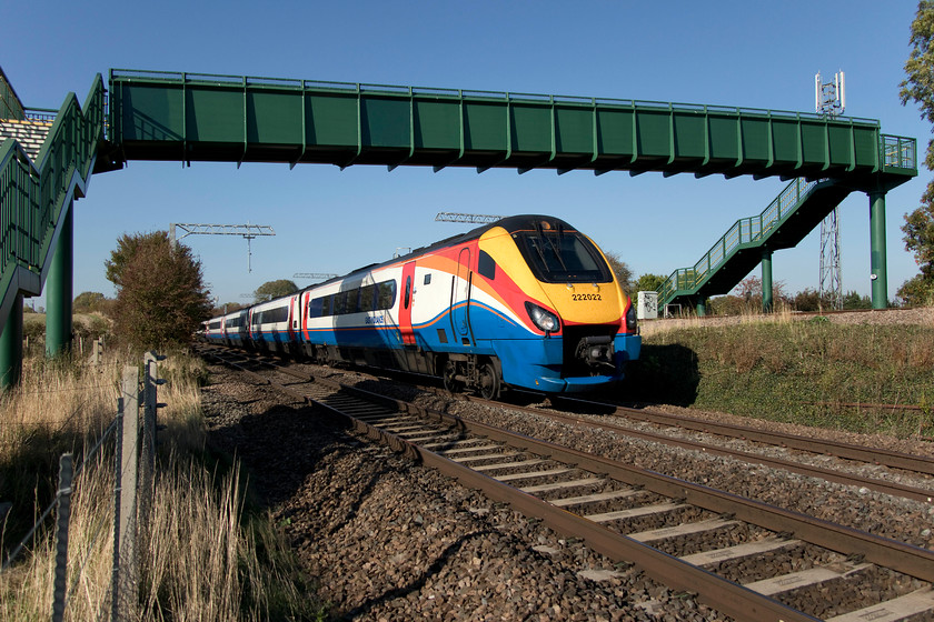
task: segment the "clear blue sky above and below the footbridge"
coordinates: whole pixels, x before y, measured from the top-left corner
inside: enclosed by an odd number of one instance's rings
[[[843,69],[846,114],[917,138],[923,153],[931,126],[898,100],[916,10],[910,0],[40,0],[4,7],[0,64],[38,108],[58,108],[69,91],[83,102],[96,73],[123,68],[805,112],[814,110],[814,74]],[[900,228],[930,179],[922,169],[887,195],[890,298],[917,273]],[[130,162],[95,175],[76,203],[74,293],[115,295],[103,262],[117,238],[170,222],[276,230],[254,240],[252,272],[241,238],[186,239],[227,302],[269,280],[342,273],[469,228],[435,222],[439,211],[554,214],[619,253],[636,275],[667,275],[784,185],[660,173]],[[863,193],[841,205],[843,287],[861,294],[871,291],[868,211]],[[774,278],[788,291],[817,287],[818,238],[775,254]]]

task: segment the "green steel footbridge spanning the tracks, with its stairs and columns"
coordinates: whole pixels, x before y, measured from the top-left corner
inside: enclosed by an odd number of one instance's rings
[[[0,384],[17,382],[22,299],[47,290],[47,353],[70,347],[73,201],[129,160],[694,173],[793,180],[738,221],[659,303],[726,293],[847,194],[871,203],[873,305],[886,304],[885,194],[917,174],[915,139],[871,119],[718,106],[111,70],[85,104],[22,106],[0,71]],[[767,272],[767,274],[766,274]],[[767,281],[766,281],[767,277]]]

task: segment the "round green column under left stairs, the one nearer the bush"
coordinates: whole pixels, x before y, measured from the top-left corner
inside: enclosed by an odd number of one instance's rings
[[[64,222],[46,280],[46,357],[71,350],[71,304],[74,271],[74,202],[66,208]]]

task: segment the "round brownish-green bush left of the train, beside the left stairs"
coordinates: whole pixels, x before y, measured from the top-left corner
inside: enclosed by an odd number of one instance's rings
[[[113,333],[139,350],[186,343],[211,309],[201,262],[166,231],[123,234],[105,262],[117,287]]]

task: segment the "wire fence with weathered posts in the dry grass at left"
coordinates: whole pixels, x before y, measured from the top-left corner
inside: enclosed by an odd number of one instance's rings
[[[47,519],[56,511],[54,525],[54,568],[51,603],[51,620],[64,619],[71,596],[81,579],[85,564],[91,556],[91,550],[106,535],[99,531],[81,551],[69,551],[69,528],[71,500],[81,485],[81,474],[86,464],[98,458],[101,452],[113,447],[113,520],[110,533],[113,541],[113,559],[110,585],[111,621],[136,619],[138,603],[138,535],[146,531],[153,495],[153,471],[156,466],[156,413],[166,404],[158,402],[158,387],[163,383],[159,378],[158,362],[165,357],[147,353],[143,358],[142,379],[135,365],[123,368],[120,383],[120,398],[117,400],[117,414],[108,424],[97,444],[85,453],[77,466],[71,453],[59,458],[58,488],[52,502],[40,514],[22,541],[12,549],[3,561],[0,572],[7,571],[17,556],[24,551],[40,532]],[[140,382],[141,380],[141,382]],[[9,508],[0,508],[0,514]],[[2,521],[2,515],[0,515]],[[69,565],[71,585],[68,585]],[[101,612],[99,620],[106,620],[107,612]]]

